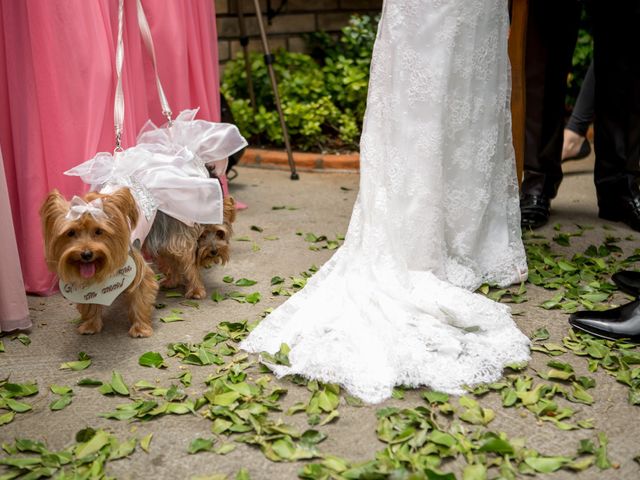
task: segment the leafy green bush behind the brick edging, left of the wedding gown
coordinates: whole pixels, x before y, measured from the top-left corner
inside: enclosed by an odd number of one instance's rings
[[[274,70],[287,129],[300,150],[357,148],[369,83],[377,19],[353,16],[338,38],[320,32],[307,36],[312,55],[275,52]],[[282,129],[262,55],[250,54],[258,104],[248,100],[244,57],[225,66],[221,91],[240,131],[260,143],[283,145]]]

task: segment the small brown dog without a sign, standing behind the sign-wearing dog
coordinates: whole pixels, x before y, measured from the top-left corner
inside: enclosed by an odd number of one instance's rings
[[[229,261],[229,240],[236,219],[236,203],[225,197],[223,223],[188,226],[158,212],[142,250],[164,275],[162,286],[184,285],[185,297],[204,298],[207,294],[200,268]]]

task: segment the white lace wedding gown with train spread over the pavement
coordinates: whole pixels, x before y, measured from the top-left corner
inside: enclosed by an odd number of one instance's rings
[[[344,245],[241,345],[367,402],[461,393],[529,358],[508,307],[526,278],[509,110],[507,0],[386,0]]]

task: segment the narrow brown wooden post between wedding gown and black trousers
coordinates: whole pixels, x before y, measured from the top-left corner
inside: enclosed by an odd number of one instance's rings
[[[522,183],[524,170],[524,141],[526,119],[526,91],[524,60],[527,46],[528,0],[512,0],[511,32],[509,34],[509,58],[511,59],[511,118],[513,147],[516,153],[518,184]]]

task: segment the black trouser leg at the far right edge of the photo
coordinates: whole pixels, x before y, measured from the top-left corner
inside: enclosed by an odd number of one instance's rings
[[[640,177],[640,1],[593,2],[598,203],[637,195]]]

